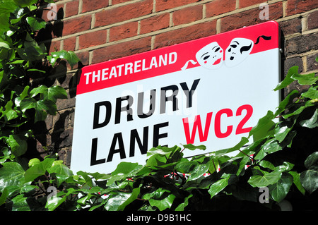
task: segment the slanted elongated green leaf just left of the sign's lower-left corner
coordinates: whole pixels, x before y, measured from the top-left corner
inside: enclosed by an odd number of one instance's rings
[[[49,169],[55,159],[46,158],[42,162],[35,164],[30,167],[27,171],[25,171],[25,182],[34,181],[35,178],[45,175],[47,169]]]

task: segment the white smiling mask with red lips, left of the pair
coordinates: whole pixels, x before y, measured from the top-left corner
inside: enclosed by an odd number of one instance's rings
[[[218,42],[212,42],[196,52],[196,61],[204,68],[219,68],[223,63],[223,49]]]

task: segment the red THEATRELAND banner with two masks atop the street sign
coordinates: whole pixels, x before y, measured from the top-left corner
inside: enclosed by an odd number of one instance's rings
[[[85,66],[77,95],[196,66],[232,67],[249,54],[280,47],[278,23],[269,21],[210,37]]]

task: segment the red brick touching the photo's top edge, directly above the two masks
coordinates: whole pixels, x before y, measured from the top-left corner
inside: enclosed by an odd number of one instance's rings
[[[206,4],[206,17],[217,16],[234,11],[236,2],[233,0],[216,0]]]

